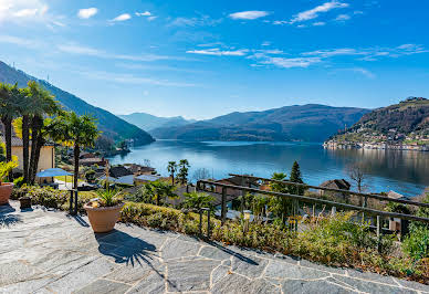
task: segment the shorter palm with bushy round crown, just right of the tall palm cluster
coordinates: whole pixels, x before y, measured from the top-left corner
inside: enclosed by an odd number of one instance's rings
[[[90,115],[77,116],[75,113],[63,113],[52,122],[51,136],[55,141],[73,146],[74,179],[73,188],[77,188],[79,157],[81,148],[92,147],[100,132],[95,118]]]

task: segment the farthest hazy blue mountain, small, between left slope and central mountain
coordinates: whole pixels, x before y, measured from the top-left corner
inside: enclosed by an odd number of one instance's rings
[[[128,122],[129,124],[136,125],[142,129],[150,132],[154,128],[159,127],[172,127],[172,126],[182,126],[187,124],[195,123],[195,119],[187,120],[181,116],[175,117],[159,117],[146,113],[133,113],[128,115],[118,115],[122,119]]]

